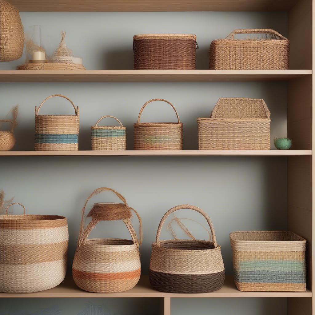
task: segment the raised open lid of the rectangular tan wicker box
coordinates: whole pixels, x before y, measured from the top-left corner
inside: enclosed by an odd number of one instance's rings
[[[249,98],[220,98],[215,104],[211,118],[270,118],[264,100]]]

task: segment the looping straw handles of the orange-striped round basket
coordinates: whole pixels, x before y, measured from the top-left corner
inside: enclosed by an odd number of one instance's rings
[[[111,192],[113,192],[118,198],[120,198],[123,201],[123,203],[126,205],[126,207],[128,207],[129,209],[131,209],[131,210],[133,210],[135,212],[135,214],[136,214],[136,216],[137,216],[137,218],[139,220],[139,239],[140,239],[140,241],[138,241],[137,233],[135,232],[135,229],[133,228],[130,219],[123,219],[123,222],[127,226],[127,229],[128,229],[128,231],[129,231],[129,233],[131,235],[131,238],[132,238],[134,244],[139,249],[139,245],[142,243],[142,238],[143,238],[141,217],[140,217],[140,215],[138,214],[138,212],[135,209],[133,209],[133,208],[128,206],[127,201],[123,197],[123,195],[121,195],[119,192],[113,190],[112,188],[108,188],[108,187],[100,187],[100,188],[95,189],[95,191],[92,192],[89,195],[88,199],[86,199],[84,207],[82,209],[82,217],[81,217],[81,224],[80,224],[80,231],[79,231],[77,246],[79,247],[81,245],[85,245],[85,242],[86,242],[89,234],[92,232],[94,227],[100,222],[100,220],[97,220],[97,219],[93,218],[92,221],[90,221],[90,223],[84,229],[84,214],[85,214],[85,207],[86,207],[88,201],[93,196],[95,196],[95,195],[97,195],[97,194],[99,194],[101,192],[104,192],[104,191],[111,191]]]

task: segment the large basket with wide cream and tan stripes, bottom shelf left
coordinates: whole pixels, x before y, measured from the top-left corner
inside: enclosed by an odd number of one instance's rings
[[[8,215],[19,204],[24,215]],[[67,219],[59,215],[26,215],[11,203],[0,215],[0,291],[30,293],[53,288],[66,276]]]

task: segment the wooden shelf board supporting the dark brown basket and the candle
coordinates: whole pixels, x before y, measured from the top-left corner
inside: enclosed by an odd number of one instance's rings
[[[312,70],[0,70],[0,82],[287,81]]]

